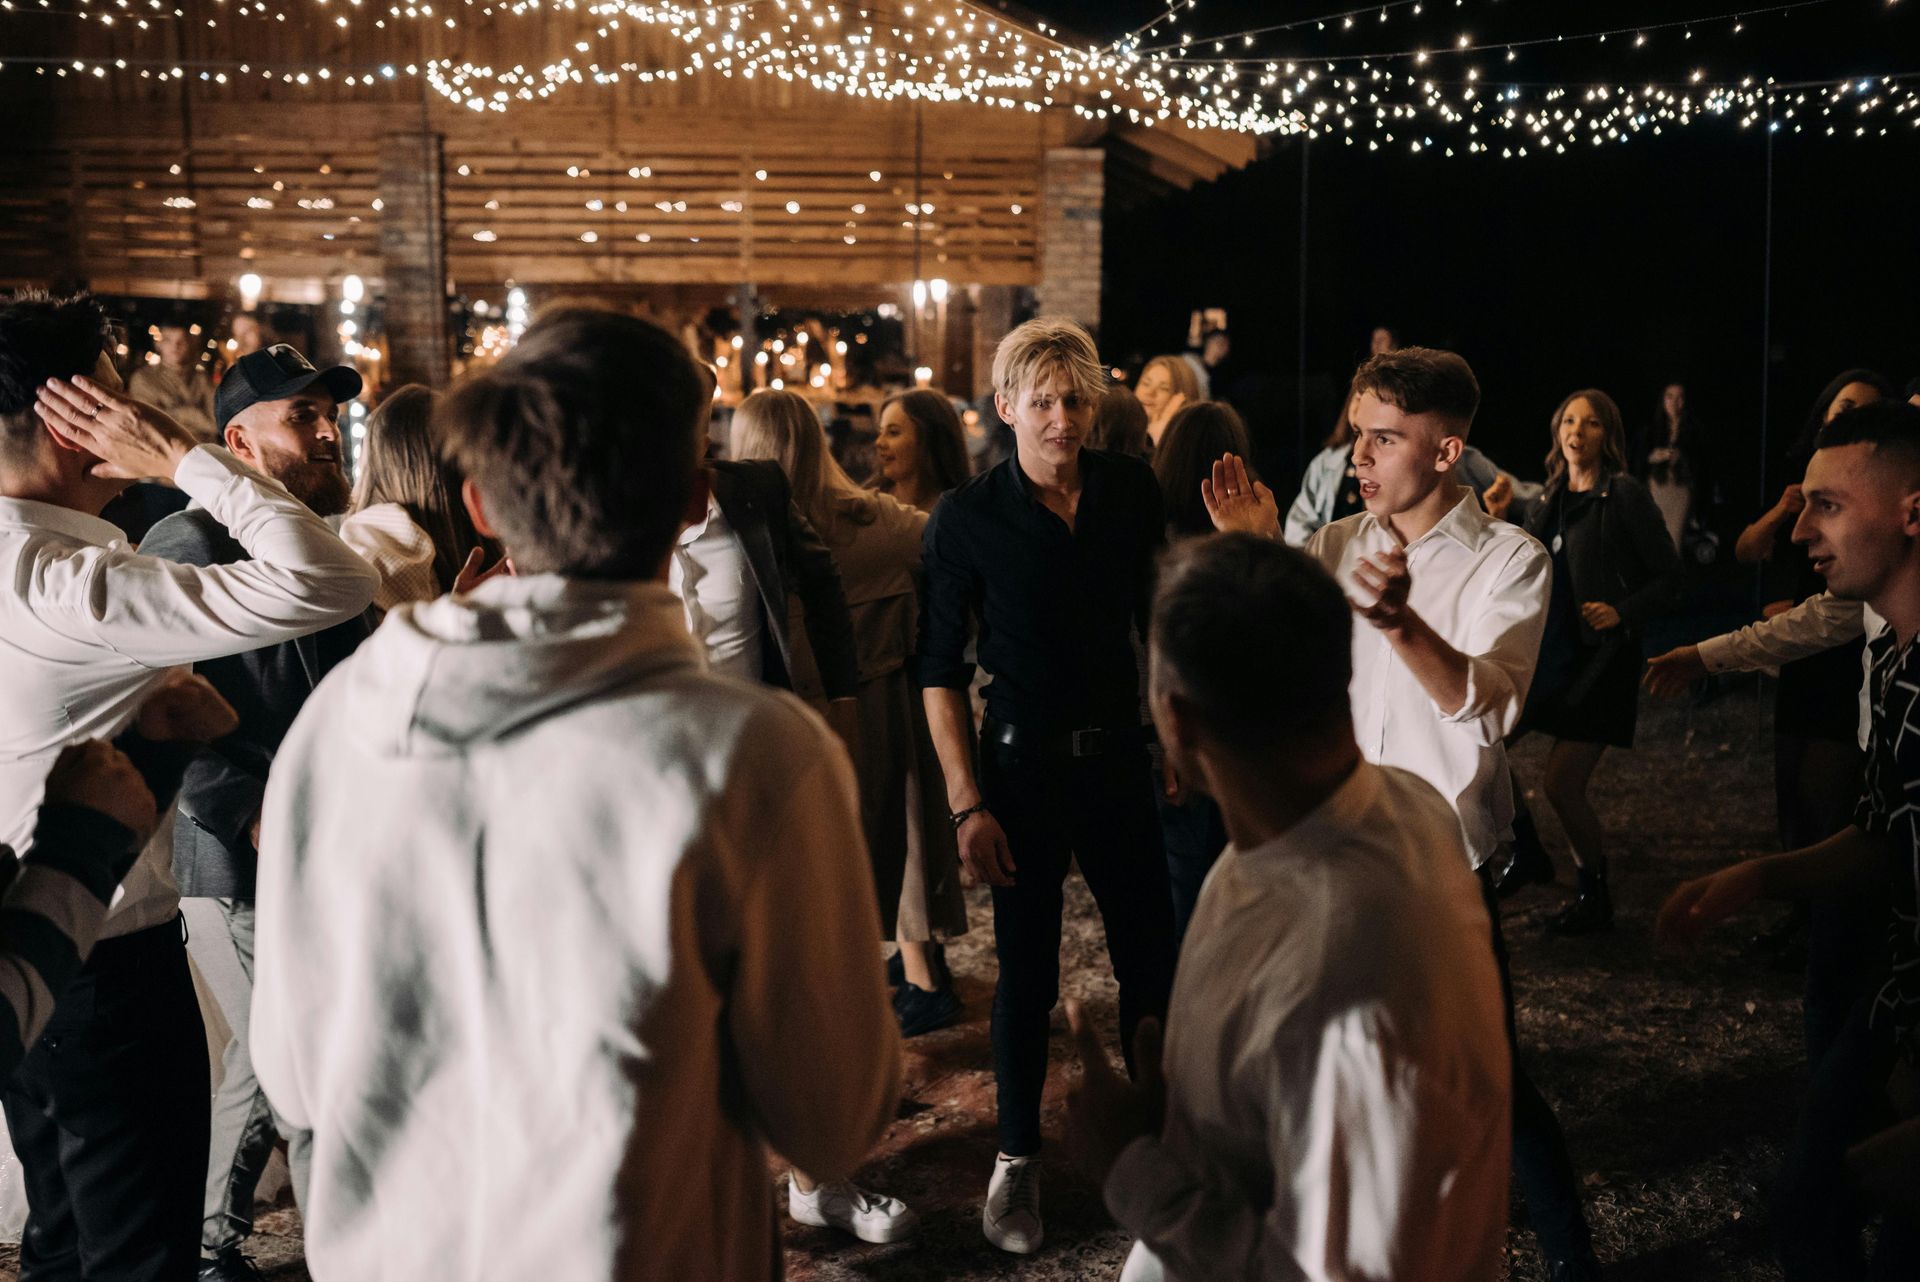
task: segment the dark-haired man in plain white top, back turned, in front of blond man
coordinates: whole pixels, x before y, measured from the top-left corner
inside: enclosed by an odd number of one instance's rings
[[[1233,844],[1175,973],[1164,1123],[1144,1029],[1127,1086],[1069,1009],[1069,1138],[1140,1242],[1125,1278],[1500,1274],[1509,1056],[1486,908],[1446,800],[1354,741],[1350,631],[1292,549],[1233,534],[1162,564],[1154,724]]]

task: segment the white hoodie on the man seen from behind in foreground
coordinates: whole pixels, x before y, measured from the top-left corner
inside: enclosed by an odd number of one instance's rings
[[[893,1119],[852,770],[664,585],[396,608],[261,833],[253,1067],[323,1282],[774,1276],[762,1142],[835,1178]]]

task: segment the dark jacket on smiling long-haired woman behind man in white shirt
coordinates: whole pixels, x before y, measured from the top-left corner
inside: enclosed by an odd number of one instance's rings
[[[1526,520],[1526,534],[1549,549],[1561,537],[1565,482],[1540,495]],[[1592,516],[1565,530],[1567,570],[1572,578],[1572,605],[1605,601],[1620,612],[1628,631],[1640,631],[1649,618],[1680,603],[1680,553],[1667,534],[1667,520],[1647,487],[1624,472],[1599,482],[1592,491]],[[1582,624],[1580,635],[1594,633]]]

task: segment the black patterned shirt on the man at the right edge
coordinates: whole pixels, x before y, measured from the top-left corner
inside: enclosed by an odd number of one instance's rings
[[[1887,839],[1891,973],[1874,994],[1868,1027],[1901,1042],[1920,1029],[1920,649],[1891,628],[1868,641],[1874,731],[1866,787],[1853,821]]]

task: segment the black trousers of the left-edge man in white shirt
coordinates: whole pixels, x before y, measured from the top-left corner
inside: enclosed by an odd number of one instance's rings
[[[207,1034],[179,917],[94,946],[4,1104],[27,1176],[21,1282],[198,1272]]]

